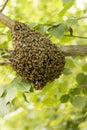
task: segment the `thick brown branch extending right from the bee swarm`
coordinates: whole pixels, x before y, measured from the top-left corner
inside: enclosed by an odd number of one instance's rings
[[[59,46],[65,56],[85,56],[87,55],[87,44],[85,45],[65,45]]]

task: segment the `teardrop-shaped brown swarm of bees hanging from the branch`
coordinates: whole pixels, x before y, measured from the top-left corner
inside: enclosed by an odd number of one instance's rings
[[[60,76],[65,56],[48,38],[24,23],[15,22],[12,40],[11,66],[23,79],[32,82],[35,89],[42,89]]]

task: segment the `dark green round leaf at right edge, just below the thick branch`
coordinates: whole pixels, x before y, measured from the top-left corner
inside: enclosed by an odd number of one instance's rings
[[[79,73],[77,76],[76,76],[76,81],[78,84],[84,84],[84,83],[87,83],[87,75],[84,74],[84,73]]]

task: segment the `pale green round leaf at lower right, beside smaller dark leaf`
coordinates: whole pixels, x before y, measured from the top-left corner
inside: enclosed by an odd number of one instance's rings
[[[78,108],[83,108],[86,105],[86,98],[82,96],[75,96],[71,103],[73,106],[78,107]]]

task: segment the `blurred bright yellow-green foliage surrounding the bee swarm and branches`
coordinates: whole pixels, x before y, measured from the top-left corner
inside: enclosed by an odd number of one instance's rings
[[[70,27],[87,36],[86,0],[9,0],[4,13],[58,45],[87,44],[64,36]],[[7,59],[6,49],[12,49],[11,33],[0,24],[0,60]],[[60,78],[40,91],[10,66],[0,66],[0,130],[87,130],[87,57],[66,57]]]

